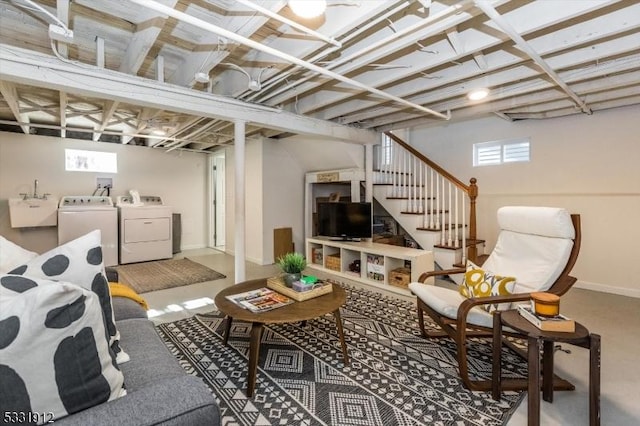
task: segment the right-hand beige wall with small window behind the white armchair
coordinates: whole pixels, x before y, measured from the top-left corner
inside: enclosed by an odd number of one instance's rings
[[[579,213],[579,286],[640,297],[634,266],[640,241],[640,108],[548,120],[486,118],[413,129],[413,146],[458,178],[478,179],[478,232],[490,250],[504,205],[565,207]],[[473,144],[530,137],[531,162],[472,165]]]

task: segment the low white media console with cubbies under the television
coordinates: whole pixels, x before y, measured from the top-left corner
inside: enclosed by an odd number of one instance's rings
[[[409,290],[392,285],[394,271],[407,268],[410,280],[417,281],[423,272],[433,271],[433,252],[370,241],[335,241],[321,237],[307,238],[307,267],[331,273],[374,287],[401,294]],[[356,264],[359,261],[359,272]],[[433,284],[433,278],[430,278]]]

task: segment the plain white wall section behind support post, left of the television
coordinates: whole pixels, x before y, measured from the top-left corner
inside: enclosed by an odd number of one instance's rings
[[[234,253],[233,147],[226,149],[227,233]],[[291,227],[295,250],[304,253],[304,179],[310,171],[364,167],[364,147],[302,137],[250,140],[246,145],[246,257],[273,263],[273,230]]]

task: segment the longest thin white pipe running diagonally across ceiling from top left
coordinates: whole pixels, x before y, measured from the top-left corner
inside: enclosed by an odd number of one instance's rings
[[[402,98],[400,98],[398,96],[394,96],[392,94],[383,92],[382,90],[376,89],[375,87],[367,86],[366,84],[362,84],[359,81],[350,79],[350,78],[345,77],[343,75],[337,74],[337,73],[335,73],[333,71],[329,71],[327,69],[324,69],[322,67],[314,65],[314,64],[309,63],[307,61],[303,61],[302,59],[296,58],[295,56],[291,56],[288,53],[284,53],[284,52],[281,52],[279,50],[273,49],[273,48],[271,48],[269,46],[265,46],[263,44],[255,42],[253,40],[250,40],[250,39],[248,39],[246,37],[242,37],[242,36],[232,32],[232,31],[226,30],[224,28],[220,28],[217,25],[210,24],[210,23],[208,23],[206,21],[203,21],[202,19],[196,18],[196,17],[191,16],[191,15],[187,15],[186,13],[177,11],[177,10],[171,8],[171,7],[167,7],[167,6],[163,5],[163,4],[157,3],[155,1],[152,1],[152,0],[129,0],[129,1],[132,2],[132,3],[138,4],[140,6],[144,6],[144,7],[147,7],[149,9],[153,9],[156,12],[160,12],[160,13],[162,13],[164,15],[171,16],[171,17],[173,17],[173,18],[175,18],[175,19],[177,19],[179,21],[185,22],[187,24],[191,24],[191,25],[196,26],[198,28],[202,28],[204,30],[211,31],[214,34],[218,34],[218,35],[220,35],[222,37],[226,37],[226,38],[228,38],[230,40],[234,40],[234,41],[236,41],[238,43],[244,44],[245,46],[251,47],[251,48],[259,50],[261,52],[268,53],[268,54],[273,55],[275,57],[278,57],[280,59],[284,59],[285,61],[291,62],[293,64],[300,65],[301,67],[307,68],[307,69],[309,69],[311,71],[315,71],[318,74],[326,75],[327,77],[330,77],[330,78],[332,78],[334,80],[341,81],[341,82],[343,82],[345,84],[348,84],[348,85],[353,86],[353,87],[357,87],[359,89],[365,90],[365,91],[367,91],[369,93],[372,93],[374,95],[378,95],[378,96],[383,97],[385,99],[389,99],[389,100],[398,102],[400,104],[407,105],[407,106],[409,106],[411,108],[417,109],[419,111],[426,112],[426,113],[431,114],[431,115],[435,115],[436,117],[439,117],[439,118],[442,118],[442,119],[445,119],[445,120],[449,120],[451,118],[451,114],[445,115],[445,114],[442,114],[440,112],[433,111],[433,110],[431,110],[431,109],[429,109],[427,107],[423,107],[422,105],[414,104],[413,102],[409,102],[409,101],[407,101],[405,99],[402,99]]]

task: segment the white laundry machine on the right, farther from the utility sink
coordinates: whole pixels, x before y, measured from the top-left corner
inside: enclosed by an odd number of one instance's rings
[[[116,201],[119,217],[120,263],[146,262],[173,257],[173,209],[161,197],[142,195]]]

